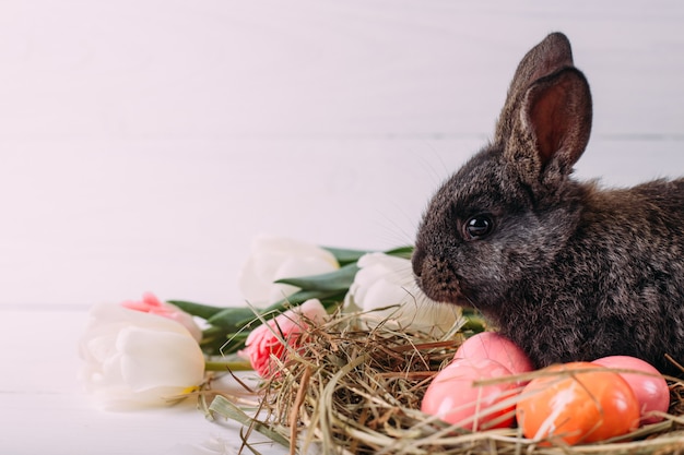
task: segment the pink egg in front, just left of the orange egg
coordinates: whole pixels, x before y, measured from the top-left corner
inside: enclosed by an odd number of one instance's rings
[[[468,430],[508,428],[514,422],[515,403],[502,404],[519,393],[512,382],[476,386],[475,381],[511,375],[503,364],[487,358],[456,359],[433,379],[421,410]]]

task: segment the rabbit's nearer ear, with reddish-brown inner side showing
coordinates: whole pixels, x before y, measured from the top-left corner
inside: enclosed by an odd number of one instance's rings
[[[591,93],[585,75],[565,68],[539,79],[523,95],[505,156],[533,184],[567,176],[591,132]]]

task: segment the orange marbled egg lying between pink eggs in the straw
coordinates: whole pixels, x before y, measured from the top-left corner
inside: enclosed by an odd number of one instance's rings
[[[620,374],[590,362],[541,371],[558,374],[535,378],[522,391],[516,417],[526,438],[542,445],[574,445],[620,436],[638,427],[639,403]]]

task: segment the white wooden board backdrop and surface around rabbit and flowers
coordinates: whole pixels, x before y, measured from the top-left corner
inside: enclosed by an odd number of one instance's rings
[[[260,232],[410,243],[556,29],[593,91],[578,175],[684,173],[679,0],[0,1],[0,452],[231,453],[191,404],[89,403],[87,308],[240,304]]]

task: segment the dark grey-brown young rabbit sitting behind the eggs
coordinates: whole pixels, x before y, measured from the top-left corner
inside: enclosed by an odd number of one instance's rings
[[[536,368],[611,355],[684,362],[684,179],[571,177],[592,103],[568,38],[519,63],[491,143],[436,192],[412,255],[433,300],[479,310]]]

